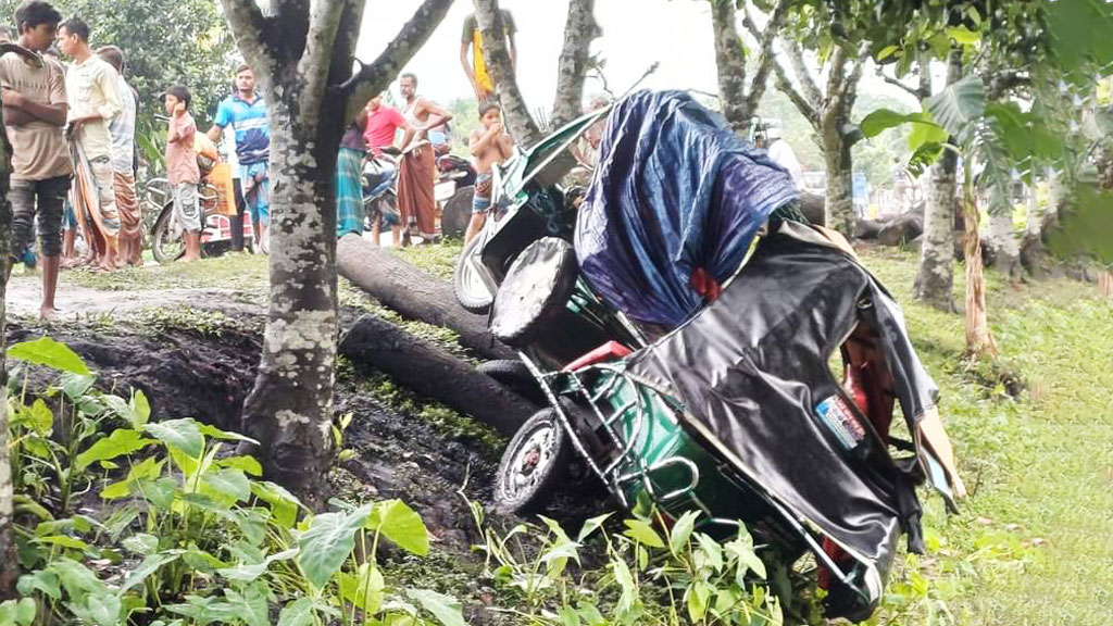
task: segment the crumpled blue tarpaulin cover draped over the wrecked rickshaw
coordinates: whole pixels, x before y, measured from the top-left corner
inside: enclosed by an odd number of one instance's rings
[[[732,276],[758,228],[795,200],[788,172],[683,91],[639,91],[607,120],[575,252],[630,317],[677,326],[705,304],[692,274]]]

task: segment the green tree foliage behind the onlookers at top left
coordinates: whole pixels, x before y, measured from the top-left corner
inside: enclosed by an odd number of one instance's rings
[[[216,105],[232,90],[238,65],[235,41],[213,0],[52,0],[62,18],[85,20],[93,49],[116,45],[126,58],[125,78],[139,91],[136,124],[141,156],[161,160],[165,126],[158,94],[186,85],[200,128],[211,124]],[[0,0],[0,19],[13,30],[19,0]]]

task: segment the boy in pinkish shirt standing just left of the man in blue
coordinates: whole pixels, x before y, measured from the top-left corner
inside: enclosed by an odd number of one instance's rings
[[[186,254],[181,260],[187,262],[201,257],[201,218],[197,206],[197,184],[201,175],[194,149],[197,125],[189,115],[189,90],[181,85],[162,94],[166,115],[170,116],[166,133],[166,177],[174,189],[174,214],[186,239]]]

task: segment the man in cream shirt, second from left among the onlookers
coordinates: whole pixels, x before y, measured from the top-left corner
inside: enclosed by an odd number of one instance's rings
[[[58,46],[73,59],[66,74],[69,101],[70,149],[73,154],[73,209],[88,234],[96,266],[117,267],[120,216],[112,176],[112,137],[109,123],[120,115],[116,70],[89,47],[89,25],[70,18],[58,27]]]

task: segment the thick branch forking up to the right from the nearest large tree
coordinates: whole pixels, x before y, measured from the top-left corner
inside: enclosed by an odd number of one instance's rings
[[[335,88],[339,97],[347,98],[345,120],[355,119],[356,113],[367,104],[367,100],[382,92],[394,80],[433,35],[451,6],[452,0],[424,0],[373,63],[363,66],[359,74]]]

